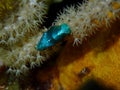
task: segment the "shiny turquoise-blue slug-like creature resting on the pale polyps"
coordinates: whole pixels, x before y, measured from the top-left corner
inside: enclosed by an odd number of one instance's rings
[[[70,34],[70,27],[63,23],[60,26],[52,26],[48,31],[44,32],[40,41],[36,45],[37,50],[44,50],[48,47],[60,42],[66,35]]]

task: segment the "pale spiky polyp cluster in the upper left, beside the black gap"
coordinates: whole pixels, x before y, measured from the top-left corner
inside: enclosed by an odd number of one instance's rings
[[[15,1],[16,2],[16,1]],[[0,22],[0,45],[12,46],[30,34],[36,33],[42,24],[46,6],[38,0],[21,0],[18,11],[12,13],[3,24]]]

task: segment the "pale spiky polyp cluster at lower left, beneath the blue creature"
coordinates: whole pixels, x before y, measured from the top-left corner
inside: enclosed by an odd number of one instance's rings
[[[40,66],[45,60],[50,58],[57,51],[55,47],[50,50],[37,51],[35,49],[36,43],[41,38],[42,33],[38,33],[36,36],[29,39],[22,48],[13,49],[8,53],[6,59],[6,65],[10,66],[8,73],[15,73],[16,76],[20,76],[29,71],[29,69],[35,66]]]

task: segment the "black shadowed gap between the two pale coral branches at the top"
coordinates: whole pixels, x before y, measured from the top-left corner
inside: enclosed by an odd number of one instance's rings
[[[62,12],[64,8],[67,6],[71,6],[77,3],[82,3],[83,0],[63,0],[61,3],[54,3],[50,5],[50,8],[48,10],[47,18],[45,19],[45,22],[43,25],[46,27],[51,26],[52,22],[56,19],[57,14]]]

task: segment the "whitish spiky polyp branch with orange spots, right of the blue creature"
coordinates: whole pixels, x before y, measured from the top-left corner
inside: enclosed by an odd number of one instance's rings
[[[120,0],[85,0],[82,5],[77,5],[77,8],[71,6],[64,9],[53,25],[67,23],[74,37],[73,44],[81,44],[87,36],[95,33],[98,27],[105,24],[107,28],[113,20],[120,18],[120,7],[114,8],[114,3],[120,4]]]

